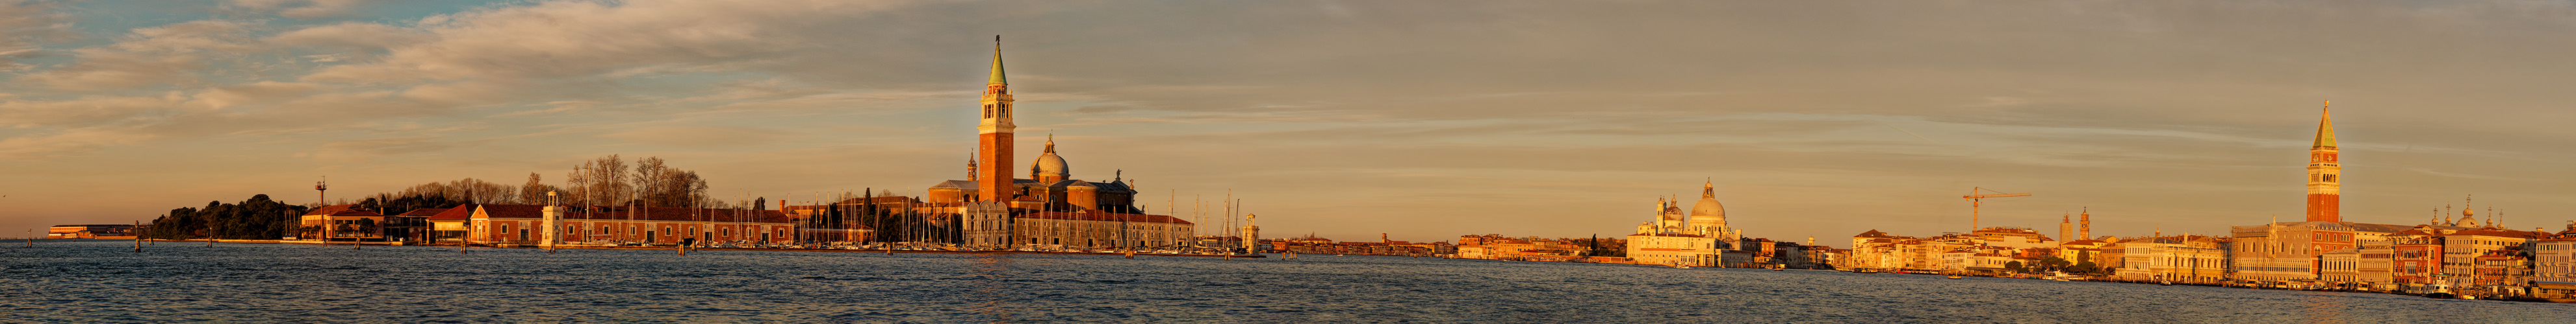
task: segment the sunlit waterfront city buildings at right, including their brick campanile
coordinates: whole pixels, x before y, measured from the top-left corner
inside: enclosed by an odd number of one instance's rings
[[[2012,273],[1994,262],[2058,265],[2107,280],[2241,283],[2287,288],[2367,288],[2411,293],[2576,296],[2576,224],[2566,231],[2517,231],[2478,219],[2473,206],[2458,219],[2437,213],[2424,224],[2357,224],[2342,219],[2342,157],[2334,118],[2318,116],[2308,147],[2306,219],[2231,226],[2228,237],[2092,237],[2081,224],[2058,221],[2050,242],[2027,229],[1971,234],[1852,237],[1839,267]],[[2089,265],[2089,267],[2087,267]]]

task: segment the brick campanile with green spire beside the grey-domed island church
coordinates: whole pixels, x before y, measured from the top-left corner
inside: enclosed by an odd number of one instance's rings
[[[1002,36],[992,36],[992,80],[984,82],[984,123],[976,123],[976,201],[1010,201],[1020,185],[1010,175],[1010,82],[1002,82]]]

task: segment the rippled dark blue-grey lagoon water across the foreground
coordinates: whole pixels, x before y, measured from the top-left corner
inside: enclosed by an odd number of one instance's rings
[[[0,321],[2463,321],[2576,303],[1419,257],[0,244]]]

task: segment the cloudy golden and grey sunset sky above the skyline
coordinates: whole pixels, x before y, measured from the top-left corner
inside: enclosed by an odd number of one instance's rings
[[[1986,226],[2221,234],[2303,219],[2324,100],[2347,221],[2558,231],[2571,33],[2563,0],[0,0],[0,237],[605,154],[920,195],[966,177],[994,36],[1018,157],[1265,237],[1623,237],[1703,183],[1834,247],[1965,231],[1971,188],[2032,193]]]

